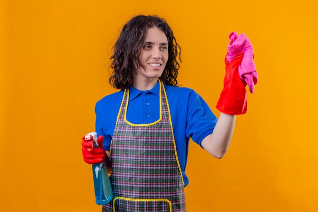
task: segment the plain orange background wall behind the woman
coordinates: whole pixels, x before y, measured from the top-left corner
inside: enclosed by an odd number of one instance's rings
[[[190,142],[187,211],[318,211],[316,1],[4,1],[0,211],[101,211],[81,138],[132,16],[157,14],[182,47],[179,82],[215,109],[232,31],[260,75],[224,158]]]

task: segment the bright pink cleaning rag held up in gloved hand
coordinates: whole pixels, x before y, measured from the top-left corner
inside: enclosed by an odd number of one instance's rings
[[[255,69],[252,44],[244,34],[238,35],[237,32],[232,32],[229,38],[231,41],[228,45],[226,59],[231,63],[239,51],[243,53],[243,59],[238,68],[238,72],[241,80],[244,80],[249,87],[249,92],[253,94],[254,86],[258,81],[259,75]]]

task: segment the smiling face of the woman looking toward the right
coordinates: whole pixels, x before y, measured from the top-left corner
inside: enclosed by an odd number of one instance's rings
[[[168,60],[168,40],[157,27],[149,28],[144,43],[140,49],[139,61],[145,67],[140,67],[136,79],[149,81],[160,77]]]

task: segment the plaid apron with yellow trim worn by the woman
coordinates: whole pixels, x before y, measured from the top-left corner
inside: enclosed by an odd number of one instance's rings
[[[160,119],[151,124],[126,120],[125,90],[111,142],[113,200],[103,212],[185,210],[184,183],[177,157],[171,116],[160,81]]]

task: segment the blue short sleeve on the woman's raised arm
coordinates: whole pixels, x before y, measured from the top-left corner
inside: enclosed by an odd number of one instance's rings
[[[217,118],[197,93],[189,98],[186,135],[201,146],[202,140],[213,133]],[[201,146],[202,147],[202,146]]]

